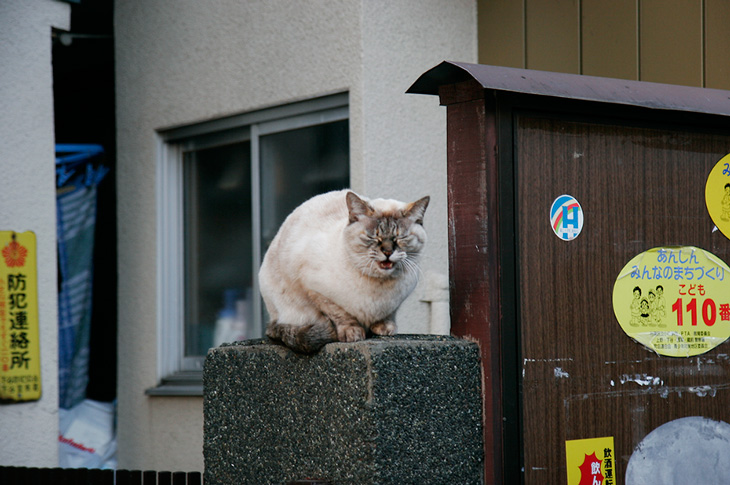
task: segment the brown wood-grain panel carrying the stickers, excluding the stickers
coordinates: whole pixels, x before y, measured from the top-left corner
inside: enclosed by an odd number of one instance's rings
[[[704,202],[730,136],[530,113],[515,120],[525,482],[566,483],[565,441],[612,436],[614,483],[624,483],[634,447],[658,426],[686,416],[730,421],[730,343],[663,357],[628,337],[612,307],[619,271],[650,248],[697,246],[730,262],[730,241],[712,231]],[[572,241],[549,223],[562,194],[584,213]]]

